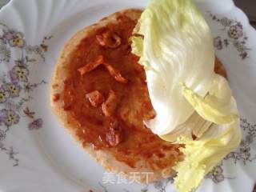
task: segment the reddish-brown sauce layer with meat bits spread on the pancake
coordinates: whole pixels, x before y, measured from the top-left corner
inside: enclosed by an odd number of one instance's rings
[[[143,121],[154,118],[146,74],[130,52],[136,22],[119,15],[116,23],[94,30],[76,47],[66,70],[62,98],[69,124],[84,146],[107,150],[118,161],[152,170],[174,166],[180,146],[165,142]]]

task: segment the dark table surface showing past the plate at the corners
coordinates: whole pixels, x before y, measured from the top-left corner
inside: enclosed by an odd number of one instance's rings
[[[0,0],[0,9],[5,6],[10,0]],[[234,0],[236,6],[243,10],[250,20],[250,24],[256,29],[256,1],[255,0]],[[254,191],[256,192],[256,184]]]

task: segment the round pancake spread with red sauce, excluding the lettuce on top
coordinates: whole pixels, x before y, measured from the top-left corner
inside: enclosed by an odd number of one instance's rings
[[[140,182],[174,174],[179,145],[165,142],[143,121],[156,115],[130,36],[142,10],[118,11],[86,26],[63,47],[50,90],[54,114],[106,170]],[[226,76],[216,60],[215,71]]]

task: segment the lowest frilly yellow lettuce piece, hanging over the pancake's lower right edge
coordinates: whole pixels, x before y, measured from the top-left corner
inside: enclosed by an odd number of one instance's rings
[[[214,124],[196,141],[184,136],[178,138],[179,143],[186,145],[180,149],[184,154],[184,160],[174,167],[178,172],[174,178],[174,185],[178,191],[195,190],[204,176],[225,158],[226,154],[235,150],[240,141],[241,129],[238,119],[222,126]]]

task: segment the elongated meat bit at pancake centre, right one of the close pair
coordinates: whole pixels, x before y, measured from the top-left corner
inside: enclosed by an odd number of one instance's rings
[[[106,98],[106,102],[102,103],[102,112],[106,117],[110,117],[112,114],[114,114],[114,110],[118,106],[117,100],[118,96],[113,90],[110,90],[109,96]]]

